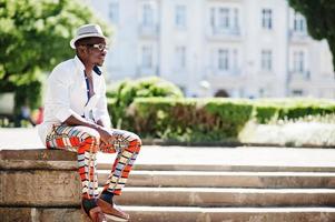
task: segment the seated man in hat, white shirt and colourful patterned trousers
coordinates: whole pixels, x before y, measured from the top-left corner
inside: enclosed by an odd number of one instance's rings
[[[138,135],[110,129],[106,84],[101,67],[107,53],[106,37],[97,24],[85,24],[70,41],[76,57],[58,64],[48,79],[45,120],[39,134],[48,149],[78,153],[82,184],[81,205],[93,222],[129,215],[114,203],[120,195],[140,150]],[[117,152],[104,191],[99,195],[96,153]]]

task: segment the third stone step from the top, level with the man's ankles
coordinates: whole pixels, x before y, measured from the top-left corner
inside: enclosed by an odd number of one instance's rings
[[[334,206],[334,189],[125,188],[122,205]]]

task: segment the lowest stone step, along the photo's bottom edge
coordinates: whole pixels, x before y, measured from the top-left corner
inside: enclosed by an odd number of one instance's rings
[[[131,222],[332,222],[334,208],[122,206]]]

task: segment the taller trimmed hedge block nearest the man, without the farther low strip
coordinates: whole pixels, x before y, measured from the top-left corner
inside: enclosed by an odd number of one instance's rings
[[[124,129],[183,142],[237,141],[252,113],[253,105],[242,100],[138,98],[127,110]]]

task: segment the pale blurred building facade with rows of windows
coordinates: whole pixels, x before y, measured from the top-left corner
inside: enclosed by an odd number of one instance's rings
[[[188,97],[334,98],[332,54],[286,0],[99,0],[109,81],[158,75]]]

